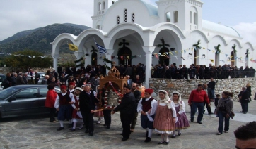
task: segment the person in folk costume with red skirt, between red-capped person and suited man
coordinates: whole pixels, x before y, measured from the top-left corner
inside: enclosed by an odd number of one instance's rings
[[[80,106],[79,106],[79,96],[80,93],[83,91],[83,89],[81,89],[80,87],[76,87],[75,89],[75,94],[72,98],[72,107],[74,108],[73,113],[72,113],[72,122],[73,124],[73,128],[71,128],[71,131],[75,131],[76,130],[76,123],[80,122],[80,127],[78,128],[83,129],[83,117],[81,115],[80,112]]]

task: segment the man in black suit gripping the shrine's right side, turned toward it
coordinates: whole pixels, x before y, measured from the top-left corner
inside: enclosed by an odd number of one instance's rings
[[[132,93],[131,86],[124,86],[124,96],[120,105],[117,105],[117,108],[112,110],[112,114],[117,111],[120,111],[120,118],[122,122],[122,141],[127,141],[131,131],[130,124],[132,122],[132,118],[134,117],[134,113],[136,112],[136,102],[134,94]]]

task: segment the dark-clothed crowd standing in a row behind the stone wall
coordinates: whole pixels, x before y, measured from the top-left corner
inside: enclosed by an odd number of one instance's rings
[[[214,77],[216,79],[227,78],[242,78],[242,77],[255,77],[255,69],[246,66],[240,68],[231,65],[219,65],[218,67],[209,64],[206,65],[178,65],[176,63],[170,66],[158,64],[152,69],[153,78],[166,78],[166,79],[209,79]]]

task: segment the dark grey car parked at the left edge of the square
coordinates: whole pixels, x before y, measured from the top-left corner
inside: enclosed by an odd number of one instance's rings
[[[58,87],[55,88],[60,93]],[[47,85],[17,85],[0,91],[0,118],[49,113]]]

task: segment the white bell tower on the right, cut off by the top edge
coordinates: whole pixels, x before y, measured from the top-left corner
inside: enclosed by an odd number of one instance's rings
[[[172,22],[181,30],[202,30],[200,0],[159,0],[158,16],[161,22]]]

